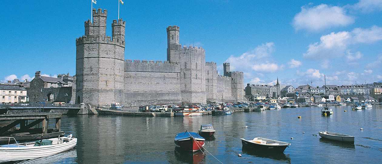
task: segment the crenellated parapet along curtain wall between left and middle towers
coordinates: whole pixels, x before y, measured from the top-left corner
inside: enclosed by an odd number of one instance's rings
[[[159,60],[126,60],[126,71],[179,73],[180,65],[177,62]]]

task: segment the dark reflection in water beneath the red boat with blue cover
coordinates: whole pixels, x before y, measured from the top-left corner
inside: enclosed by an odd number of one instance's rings
[[[191,164],[203,164],[206,162],[202,151],[188,152],[175,149],[175,158],[177,161],[191,163]]]

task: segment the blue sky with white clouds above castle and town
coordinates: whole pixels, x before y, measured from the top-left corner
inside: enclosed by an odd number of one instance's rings
[[[76,73],[75,39],[84,35],[91,0],[2,2],[0,81]],[[97,0],[108,10],[107,35],[118,0]],[[170,25],[180,43],[206,50],[206,62],[243,71],[244,82],[322,86],[382,80],[381,0],[128,1],[125,58],[166,60]],[[21,81],[20,80],[20,81]]]

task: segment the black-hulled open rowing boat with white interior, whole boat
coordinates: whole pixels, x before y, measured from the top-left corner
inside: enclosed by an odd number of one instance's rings
[[[272,152],[272,153],[283,153],[290,143],[283,141],[270,140],[267,138],[256,137],[253,140],[245,140],[240,138],[243,148],[250,148],[259,152]]]

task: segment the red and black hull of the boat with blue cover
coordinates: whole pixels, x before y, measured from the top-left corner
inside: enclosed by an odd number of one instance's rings
[[[190,151],[190,152],[196,152],[203,148],[204,146],[204,140],[197,140],[192,137],[182,139],[182,140],[175,140],[175,148],[179,149],[181,151]]]

